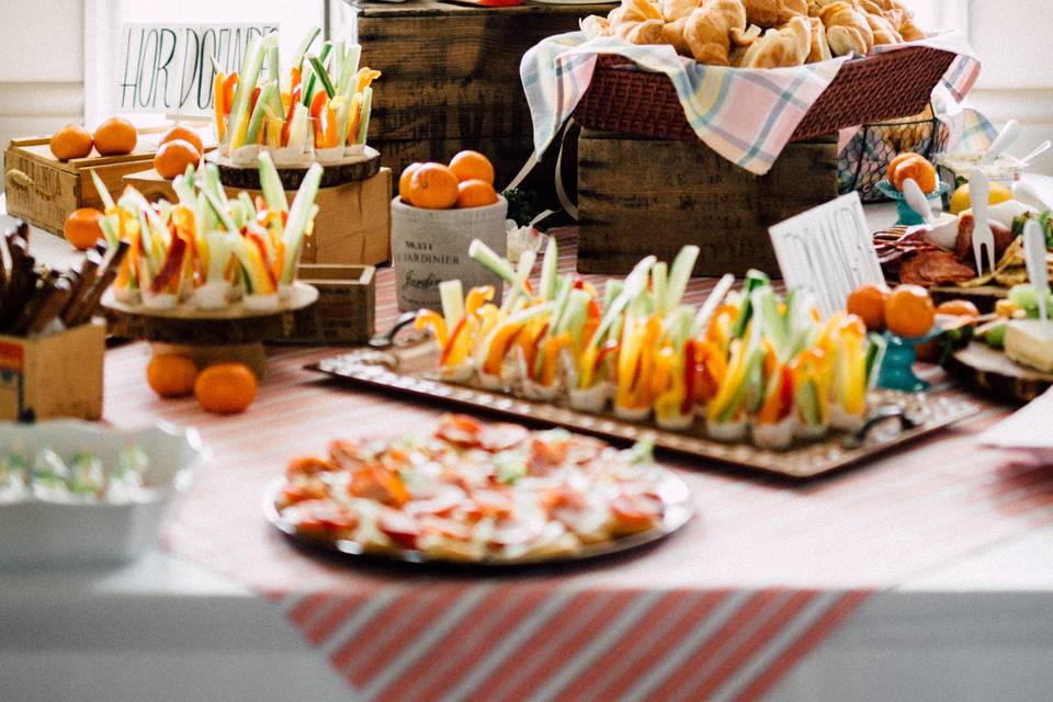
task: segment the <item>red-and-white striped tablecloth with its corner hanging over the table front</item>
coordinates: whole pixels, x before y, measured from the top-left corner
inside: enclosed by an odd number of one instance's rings
[[[563,234],[565,270],[573,233]],[[389,269],[377,325],[397,315]],[[694,302],[712,281],[693,281]],[[427,431],[440,405],[304,371],[332,350],[279,348],[244,415],[213,417],[145,383],[145,344],[106,355],[106,418],[196,426],[213,460],[169,517],[165,545],[271,598],[363,700],[762,698],[869,593],[1053,521],[1053,475],[983,450],[1009,414],[804,485],[664,457],[698,516],[666,542],[513,576],[349,567],[291,546],[262,517],[263,486],[338,437]],[[938,370],[939,393],[961,392]]]

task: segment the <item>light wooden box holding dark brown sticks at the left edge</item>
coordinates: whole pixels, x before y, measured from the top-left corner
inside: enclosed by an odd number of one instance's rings
[[[102,319],[43,337],[0,336],[0,420],[101,418],[105,350]]]

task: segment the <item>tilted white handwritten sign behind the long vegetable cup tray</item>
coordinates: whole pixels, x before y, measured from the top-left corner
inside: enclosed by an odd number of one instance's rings
[[[786,287],[811,292],[823,316],[843,309],[858,286],[885,282],[854,192],[780,222],[768,234]]]

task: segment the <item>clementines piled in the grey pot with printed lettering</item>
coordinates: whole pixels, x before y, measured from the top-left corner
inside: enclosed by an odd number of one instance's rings
[[[414,207],[485,207],[497,202],[494,165],[478,151],[461,151],[450,165],[410,163],[398,179],[399,199]]]

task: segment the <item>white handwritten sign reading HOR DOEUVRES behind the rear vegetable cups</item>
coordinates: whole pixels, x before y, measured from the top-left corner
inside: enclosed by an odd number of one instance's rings
[[[113,88],[120,112],[207,114],[212,110],[214,56],[238,70],[252,36],[272,24],[125,24]]]

